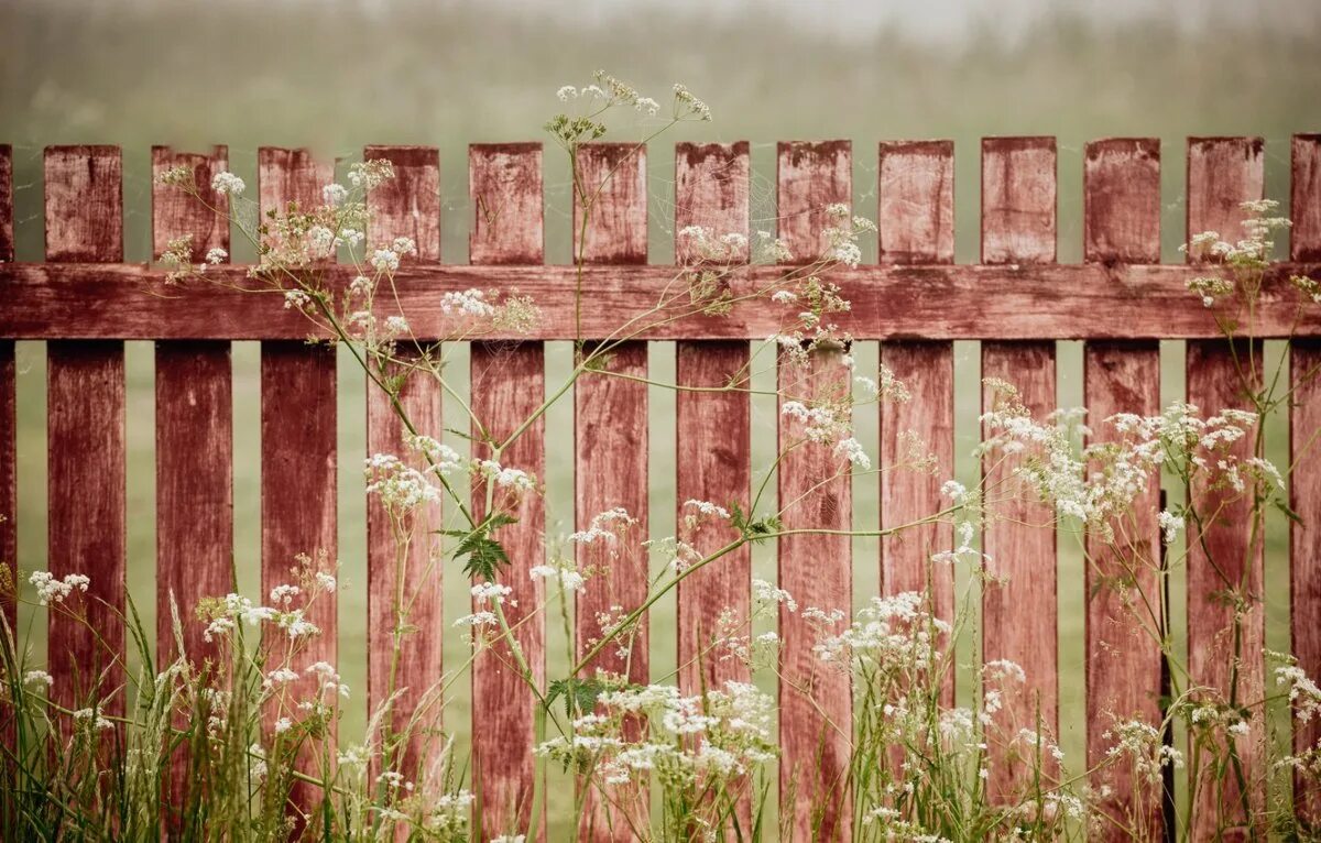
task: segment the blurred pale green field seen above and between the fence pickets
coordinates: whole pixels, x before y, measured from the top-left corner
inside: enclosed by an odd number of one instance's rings
[[[149,255],[149,147],[230,145],[231,169],[255,184],[255,148],[310,145],[337,159],[361,156],[367,143],[417,143],[441,151],[443,254],[466,260],[470,209],[466,144],[540,139],[540,124],[557,110],[557,86],[581,85],[597,67],[659,94],[675,81],[707,99],[715,122],[655,144],[649,155],[651,260],[672,259],[671,140],[753,141],[754,227],[774,223],[774,141],[853,140],[853,201],[876,210],[876,143],[882,139],[952,137],[956,155],[956,255],[978,255],[978,144],[985,135],[1054,135],[1059,143],[1059,260],[1082,254],[1082,148],[1103,136],[1157,136],[1164,144],[1164,258],[1184,239],[1182,164],[1189,135],[1262,135],[1267,139],[1268,196],[1288,198],[1288,137],[1321,131],[1321,15],[1293,25],[1230,21],[1189,29],[1170,17],[1107,22],[1053,16],[1025,25],[1013,40],[972,34],[931,44],[897,30],[838,38],[768,15],[711,24],[691,15],[646,7],[612,25],[571,13],[433,5],[427,3],[168,3],[83,7],[73,3],[0,1],[0,143],[15,144],[20,260],[42,255],[41,148],[45,144],[107,143],[124,147],[125,251]],[[1276,24],[1279,21],[1275,21]],[[635,139],[646,123],[622,126]],[[568,168],[547,153],[547,254],[569,259]],[[875,243],[864,260],[875,260]],[[235,248],[236,259],[248,259]],[[3,307],[3,293],[0,293]],[[992,326],[993,329],[993,326]],[[861,371],[877,365],[875,342],[860,344]],[[1272,354],[1280,353],[1273,348]],[[128,554],[132,593],[145,626],[155,629],[155,484],[152,349],[128,344]],[[551,344],[547,373],[568,370],[569,349]],[[1061,406],[1082,402],[1081,345],[1062,342]],[[1182,344],[1162,345],[1164,402],[1182,396]],[[41,344],[18,346],[20,564],[45,567],[45,355]],[[351,362],[339,367],[339,597],[341,673],[355,691],[366,687],[365,543],[361,462],[365,453],[363,379]],[[674,348],[651,345],[653,378],[672,379]],[[466,394],[466,357],[456,351],[450,374]],[[979,354],[956,348],[956,474],[976,481]],[[240,588],[256,595],[259,559],[259,391],[255,344],[234,348],[235,567]],[[760,371],[757,388],[773,388]],[[674,530],[674,399],[650,392],[650,523],[655,535]],[[753,399],[757,466],[774,456],[775,408]],[[448,419],[460,419],[446,407]],[[878,451],[875,412],[856,419],[859,439]],[[453,437],[452,437],[453,439]],[[1272,456],[1283,460],[1285,429],[1269,431]],[[461,441],[452,443],[462,448]],[[547,424],[548,532],[572,530],[572,403]],[[1181,494],[1169,489],[1170,494]],[[855,481],[860,527],[875,526],[878,480]],[[1304,517],[1309,515],[1304,513]],[[1271,525],[1267,564],[1268,646],[1288,649],[1287,530]],[[1069,756],[1083,754],[1082,568],[1073,539],[1059,546],[1061,739]],[[855,595],[878,587],[877,543],[853,546]],[[757,548],[758,576],[774,579],[774,548]],[[95,576],[95,572],[90,572]],[[966,577],[964,577],[966,579]],[[1182,622],[1177,577],[1176,622]],[[446,588],[446,613],[468,612],[465,588]],[[672,600],[653,613],[654,675],[674,670]],[[41,616],[25,613],[40,626]],[[564,669],[564,642],[551,626],[553,678]],[[446,663],[462,661],[464,645],[448,636]],[[38,638],[40,640],[40,638]],[[974,641],[960,654],[976,658]],[[967,678],[967,677],[964,677]],[[766,680],[766,678],[762,678]],[[466,732],[466,683],[446,710],[446,723]],[[960,695],[970,699],[970,683]],[[363,694],[343,723],[361,733]]]

